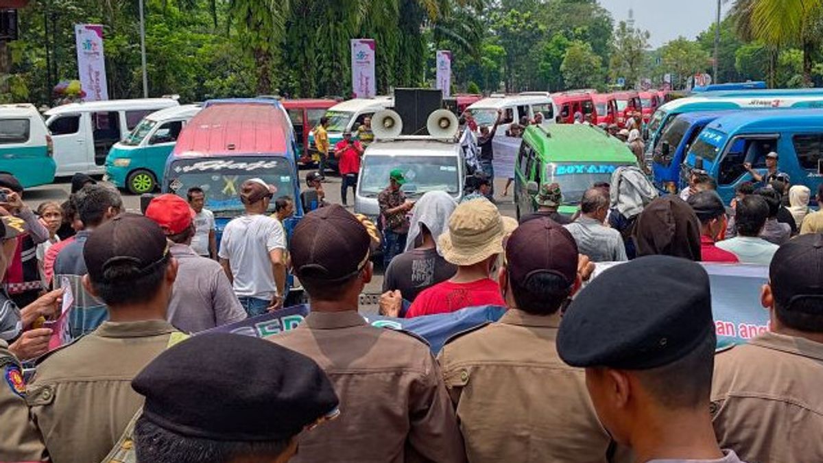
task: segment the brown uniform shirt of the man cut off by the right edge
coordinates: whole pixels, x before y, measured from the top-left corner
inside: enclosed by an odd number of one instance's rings
[[[720,447],[750,463],[823,461],[823,344],[776,333],[718,353],[711,410]]]

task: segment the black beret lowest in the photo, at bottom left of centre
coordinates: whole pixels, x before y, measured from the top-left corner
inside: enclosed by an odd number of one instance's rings
[[[317,363],[243,334],[198,334],[169,348],[132,381],[142,418],[215,441],[291,438],[337,415],[337,395]]]

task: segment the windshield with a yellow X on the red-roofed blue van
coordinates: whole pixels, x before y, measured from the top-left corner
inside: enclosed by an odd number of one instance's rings
[[[291,165],[277,157],[179,159],[170,166],[165,182],[170,191],[183,199],[189,188],[199,186],[206,194],[207,209],[219,217],[235,217],[244,212],[240,185],[254,177],[274,185],[275,199],[284,195],[295,198]],[[274,211],[274,201],[269,209]]]

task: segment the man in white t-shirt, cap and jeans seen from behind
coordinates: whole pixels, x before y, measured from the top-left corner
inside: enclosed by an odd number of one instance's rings
[[[246,213],[226,225],[220,241],[220,264],[249,316],[283,305],[286,288],[286,236],[267,210],[276,189],[258,178],[240,186]]]

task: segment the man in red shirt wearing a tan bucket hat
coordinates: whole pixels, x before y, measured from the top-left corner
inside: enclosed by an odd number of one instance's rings
[[[489,278],[497,255],[503,252],[504,234],[503,219],[491,202],[473,199],[458,205],[449,218],[449,232],[440,235],[437,246],[458,271],[417,295],[406,317],[505,306],[500,285]]]

